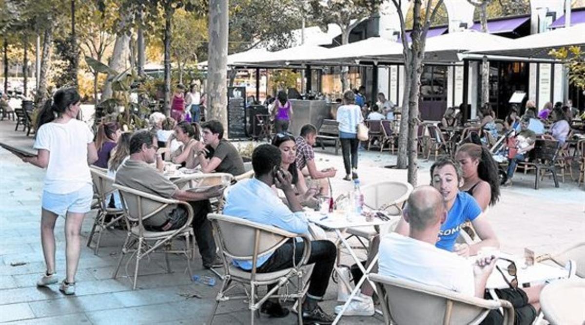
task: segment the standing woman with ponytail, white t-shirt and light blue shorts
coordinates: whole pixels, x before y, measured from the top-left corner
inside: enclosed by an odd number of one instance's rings
[[[80,96],[74,88],[59,89],[48,99],[37,118],[36,157],[23,158],[40,168],[47,168],[43,185],[41,242],[46,272],[37,286],[57,283],[55,268],[55,222],[66,216],[66,278],[59,290],[75,293],[75,273],[81,251],[81,224],[91,209],[94,191],[89,165],[98,160],[94,134],[82,121],[75,119],[80,110]]]

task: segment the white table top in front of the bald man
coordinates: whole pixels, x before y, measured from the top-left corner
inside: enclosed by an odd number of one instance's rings
[[[519,288],[522,288],[523,283],[538,284],[550,279],[566,278],[569,275],[569,271],[556,265],[536,263],[531,266],[526,266],[524,262],[524,257],[518,257],[507,253],[499,253],[499,255],[503,258],[507,258],[508,260],[512,260],[515,262],[516,267],[518,269],[517,274]],[[473,256],[470,257],[469,259],[474,261]],[[508,281],[512,281],[512,279],[514,279],[514,276],[508,274],[507,271],[510,262],[500,259],[496,262],[496,265],[498,265],[502,272],[504,272],[504,275],[506,276]],[[494,271],[491,272],[490,277],[487,279],[486,288],[503,289],[509,288],[509,286],[508,283],[506,283],[505,280],[502,278],[500,272],[498,272],[498,270],[494,268]]]

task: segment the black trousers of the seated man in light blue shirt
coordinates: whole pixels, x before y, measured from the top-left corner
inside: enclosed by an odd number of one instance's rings
[[[294,247],[295,262],[301,261],[302,250],[305,243],[288,243],[278,247],[270,258],[256,269],[258,273],[267,273],[279,271],[281,269],[292,267],[292,253]],[[311,274],[309,283],[309,290],[307,294],[310,298],[321,300],[327,291],[329,285],[329,277],[333,271],[335,264],[335,256],[337,248],[329,240],[314,240],[311,241],[311,255],[309,255],[308,264],[315,264]]]

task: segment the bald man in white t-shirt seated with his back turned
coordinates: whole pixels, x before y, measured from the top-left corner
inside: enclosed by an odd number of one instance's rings
[[[446,217],[445,200],[439,191],[432,186],[415,189],[404,210],[410,226],[408,237],[390,233],[381,238],[378,273],[491,299],[486,283],[497,257],[481,257],[472,265],[456,253],[437,248],[435,243]],[[510,276],[505,269],[503,276]],[[540,309],[542,288],[495,289],[495,293],[514,305],[514,324],[532,324]],[[491,310],[481,324],[502,323],[499,310]]]

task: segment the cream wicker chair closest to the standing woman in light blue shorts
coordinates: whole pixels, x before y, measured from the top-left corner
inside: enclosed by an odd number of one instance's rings
[[[102,231],[108,229],[109,226],[115,224],[122,219],[124,210],[116,208],[108,208],[108,199],[110,195],[116,192],[112,187],[113,178],[109,177],[103,168],[90,167],[91,179],[94,183],[95,196],[98,201],[98,212],[95,215],[94,225],[91,227],[90,236],[87,238],[87,247],[91,247],[91,242],[94,234],[97,233],[98,239],[95,242],[94,254],[98,254],[99,241],[102,238]],[[111,215],[112,219],[108,223],[105,222],[106,216]]]

